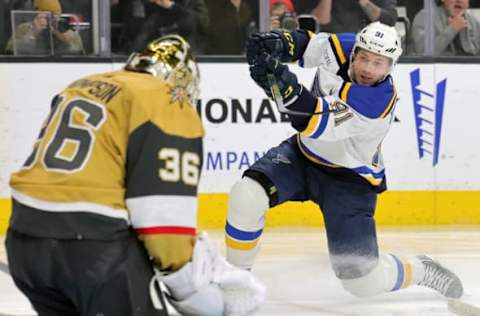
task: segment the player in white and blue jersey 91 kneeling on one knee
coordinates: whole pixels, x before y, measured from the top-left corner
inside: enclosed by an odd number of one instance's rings
[[[446,297],[463,293],[459,278],[427,256],[379,254],[374,211],[386,189],[381,144],[394,117],[390,76],[402,53],[393,27],[374,22],[358,34],[273,31],[247,44],[250,73],[281,103],[298,133],[271,148],[231,189],[227,260],[250,269],[268,208],[311,200],[325,221],[333,270],[343,287],[365,297],[412,284]],[[311,91],[281,62],[318,67]]]

